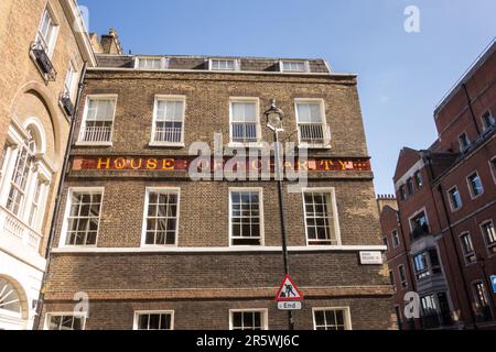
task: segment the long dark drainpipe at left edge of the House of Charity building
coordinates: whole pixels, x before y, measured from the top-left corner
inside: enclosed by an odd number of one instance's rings
[[[44,304],[44,298],[45,298],[44,290],[45,290],[47,274],[48,274],[50,264],[51,264],[51,260],[52,260],[51,251],[52,251],[52,246],[53,246],[53,240],[55,238],[55,228],[56,228],[56,223],[57,223],[57,218],[58,218],[58,213],[61,211],[62,193],[64,190],[64,184],[65,184],[65,180],[67,178],[67,173],[68,173],[71,148],[72,148],[72,144],[73,144],[74,130],[76,127],[76,117],[77,117],[77,112],[79,109],[80,99],[83,97],[83,89],[85,87],[84,80],[86,77],[87,67],[88,67],[88,63],[85,62],[85,64],[83,66],[82,75],[79,77],[76,105],[74,107],[74,113],[71,119],[71,127],[69,127],[69,134],[68,134],[68,139],[67,139],[66,152],[65,152],[64,162],[62,165],[61,179],[58,182],[58,188],[57,188],[57,196],[55,198],[55,208],[53,211],[52,222],[50,226],[48,242],[47,242],[46,251],[45,251],[46,267],[45,267],[45,272],[43,273],[40,297],[37,299],[37,305],[36,305],[36,315],[34,317],[33,330],[39,330],[41,315],[43,311],[43,304]]]

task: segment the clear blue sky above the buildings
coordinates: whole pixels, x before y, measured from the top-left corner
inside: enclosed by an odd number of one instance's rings
[[[79,0],[89,29],[125,51],[322,57],[356,73],[376,191],[392,193],[403,146],[435,140],[433,110],[496,35],[495,0]],[[405,9],[420,10],[407,33]]]

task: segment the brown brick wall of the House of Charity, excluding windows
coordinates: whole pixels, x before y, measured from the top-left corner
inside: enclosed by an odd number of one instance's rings
[[[354,76],[287,76],[205,73],[90,70],[87,95],[118,95],[111,146],[75,146],[73,156],[187,155],[196,141],[213,144],[214,132],[228,142],[229,97],[258,97],[260,116],[270,99],[284,110],[284,141],[296,141],[295,98],[321,98],[332,130],[332,147],[314,157],[367,157]],[[186,147],[151,147],[155,95],[186,96]],[[79,111],[76,138],[83,118]],[[272,135],[262,124],[262,140]],[[370,172],[315,174],[310,187],[335,187],[343,245],[381,245]],[[177,253],[140,250],[145,187],[180,187]],[[284,185],[285,186],[285,185]],[[72,170],[69,187],[105,187],[98,250],[114,253],[71,253],[55,249],[46,286],[45,311],[68,309],[74,293],[90,299],[88,329],[131,329],[136,309],[174,309],[177,329],[227,329],[229,308],[269,308],[269,327],[285,328],[285,314],[276,311],[283,277],[279,250],[229,250],[228,189],[263,190],[265,246],[281,245],[277,185],[273,182],[198,182],[185,173]],[[284,187],[285,189],[285,187]],[[302,194],[283,194],[290,246],[306,246]],[[60,242],[63,212],[57,219]],[[191,252],[191,248],[205,248]],[[209,248],[223,248],[214,252]],[[190,249],[190,251],[188,251]],[[77,252],[77,249],[76,249]],[[357,250],[308,249],[290,252],[290,267],[306,295],[296,327],[311,329],[312,307],[349,306],[356,329],[393,326],[386,265],[360,265]],[[255,306],[254,306],[255,305]],[[69,309],[72,310],[72,309]],[[112,317],[109,312],[114,311]],[[205,321],[198,319],[205,317]]]

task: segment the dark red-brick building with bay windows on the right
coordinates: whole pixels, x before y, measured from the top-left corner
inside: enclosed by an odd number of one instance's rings
[[[396,307],[406,329],[494,329],[496,274],[496,42],[434,112],[439,139],[403,148],[393,177],[398,208],[381,212]],[[417,292],[422,318],[403,315]]]

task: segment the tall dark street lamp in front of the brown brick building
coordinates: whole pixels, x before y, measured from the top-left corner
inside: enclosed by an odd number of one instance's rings
[[[274,168],[276,168],[276,179],[278,182],[278,196],[279,196],[279,218],[281,220],[281,233],[282,233],[282,256],[284,262],[284,274],[289,275],[289,262],[288,262],[288,241],[285,234],[285,219],[284,211],[282,207],[282,178],[284,177],[283,169],[283,151],[279,143],[279,133],[283,132],[282,120],[284,118],[284,112],[279,109],[276,105],[276,100],[270,101],[270,108],[265,112],[267,120],[267,127],[273,132],[274,141]],[[288,311],[288,327],[289,330],[294,330],[293,314],[291,310]]]

